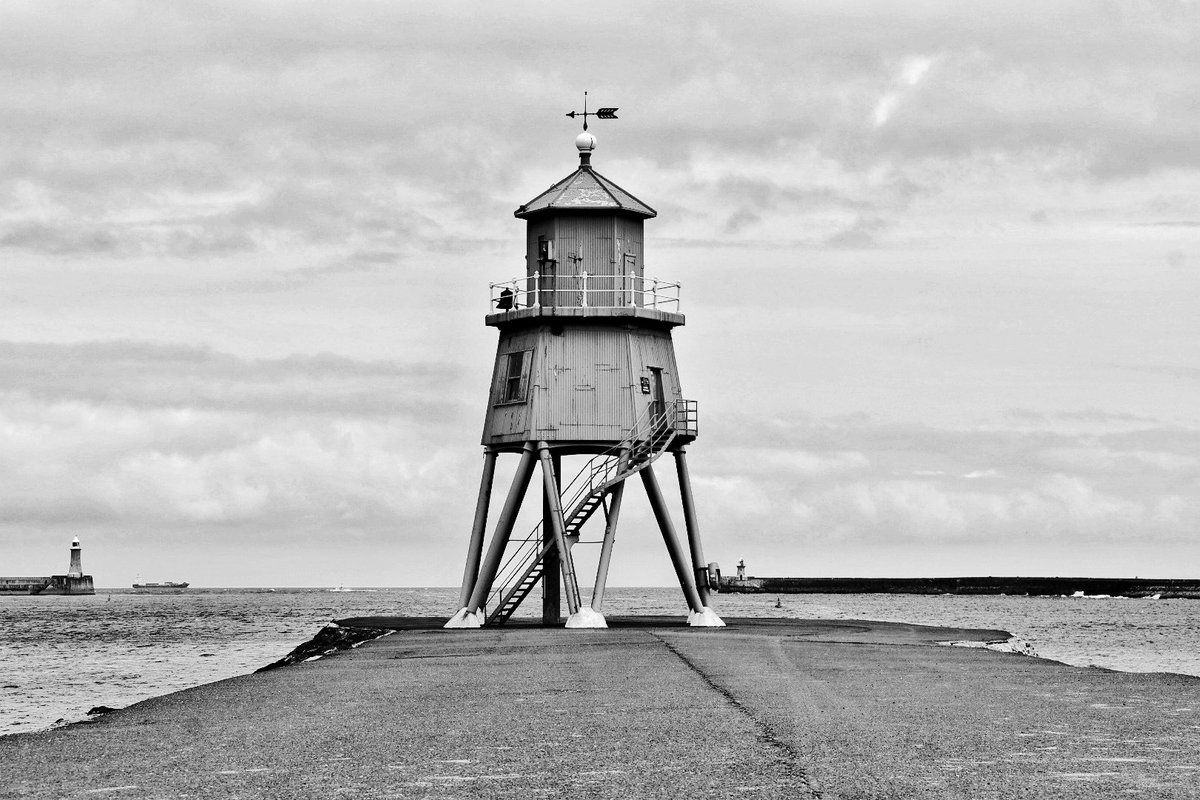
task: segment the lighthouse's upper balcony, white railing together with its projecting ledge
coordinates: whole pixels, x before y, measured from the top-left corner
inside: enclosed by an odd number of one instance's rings
[[[683,325],[679,284],[640,275],[526,275],[491,284],[488,325],[542,317],[634,317]]]

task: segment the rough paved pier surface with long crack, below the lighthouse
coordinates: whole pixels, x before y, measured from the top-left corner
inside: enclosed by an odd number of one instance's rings
[[[0,798],[1198,796],[1198,678],[936,644],[1002,631],[727,621],[353,620],[404,630],[0,738]]]

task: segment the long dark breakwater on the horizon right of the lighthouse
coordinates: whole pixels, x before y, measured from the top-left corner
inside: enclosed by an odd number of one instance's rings
[[[1153,578],[721,578],[744,594],[1076,595],[1200,600],[1200,581]]]

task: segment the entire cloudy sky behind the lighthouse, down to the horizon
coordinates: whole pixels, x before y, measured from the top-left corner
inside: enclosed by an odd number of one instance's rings
[[[1169,0],[5,2],[0,573],[456,585],[583,90],[683,283],[709,560],[1200,577]],[[630,498],[612,583],[667,585]]]

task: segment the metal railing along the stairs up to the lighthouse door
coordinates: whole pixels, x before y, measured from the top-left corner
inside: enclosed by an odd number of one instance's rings
[[[583,507],[590,495],[602,495],[619,480],[624,480],[653,463],[666,451],[676,435],[695,437],[698,432],[698,408],[696,401],[678,399],[661,409],[650,405],[634,423],[619,444],[613,445],[598,456],[593,456],[576,473],[571,482],[559,489],[563,498],[564,515],[571,515]],[[570,527],[571,518],[564,519]],[[492,593],[484,602],[487,608],[500,608],[508,595],[521,583],[529,569],[530,561],[541,557],[546,548],[542,539],[542,523],[522,539],[510,539],[509,545],[516,545],[497,570],[492,582]],[[578,535],[577,528],[574,534]]]

